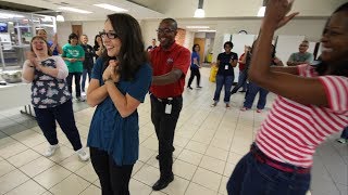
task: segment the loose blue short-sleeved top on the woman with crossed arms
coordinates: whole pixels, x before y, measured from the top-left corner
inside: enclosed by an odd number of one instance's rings
[[[91,78],[102,81],[103,58],[96,62]],[[145,100],[152,79],[152,69],[144,64],[132,81],[120,80],[117,89],[122,94],[128,93],[134,99]],[[96,108],[91,119],[87,145],[108,152],[117,166],[133,165],[139,156],[139,117],[135,110],[126,118],[122,118],[110,96]]]

